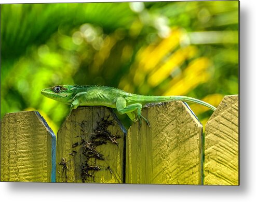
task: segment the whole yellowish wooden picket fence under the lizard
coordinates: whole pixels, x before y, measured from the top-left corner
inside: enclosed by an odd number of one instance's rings
[[[238,95],[205,126],[183,102],[149,104],[128,131],[112,109],[79,107],[56,136],[36,111],[1,121],[1,181],[239,185]]]

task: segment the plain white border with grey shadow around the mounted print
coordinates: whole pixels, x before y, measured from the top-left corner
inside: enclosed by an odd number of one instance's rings
[[[9,1],[0,3],[85,1]],[[89,1],[87,1],[89,2]],[[90,1],[103,2],[103,1]],[[111,1],[117,2],[117,1]],[[129,1],[127,1],[129,2]],[[256,198],[256,7],[240,1],[240,186],[0,182],[1,201],[253,201]],[[254,199],[253,199],[254,198]]]

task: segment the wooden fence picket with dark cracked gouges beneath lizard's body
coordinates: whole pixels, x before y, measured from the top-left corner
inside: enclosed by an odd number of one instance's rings
[[[126,131],[112,109],[78,107],[57,136],[57,182],[124,182]]]

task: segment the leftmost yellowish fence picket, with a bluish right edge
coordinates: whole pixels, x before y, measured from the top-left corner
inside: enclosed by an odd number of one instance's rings
[[[55,182],[56,136],[37,111],[6,113],[1,122],[1,181]]]

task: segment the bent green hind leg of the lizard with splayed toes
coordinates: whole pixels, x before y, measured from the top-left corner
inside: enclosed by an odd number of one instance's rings
[[[120,114],[124,114],[124,113],[128,114],[129,118],[131,118],[130,117],[131,112],[137,111],[137,117],[138,117],[138,120],[140,121],[140,124],[141,124],[141,118],[142,118],[145,120],[147,125],[150,126],[149,121],[147,121],[147,119],[141,115],[142,105],[140,103],[134,103],[134,104],[126,106],[125,98],[118,97],[116,100],[116,109],[117,109],[118,113],[120,113]]]

